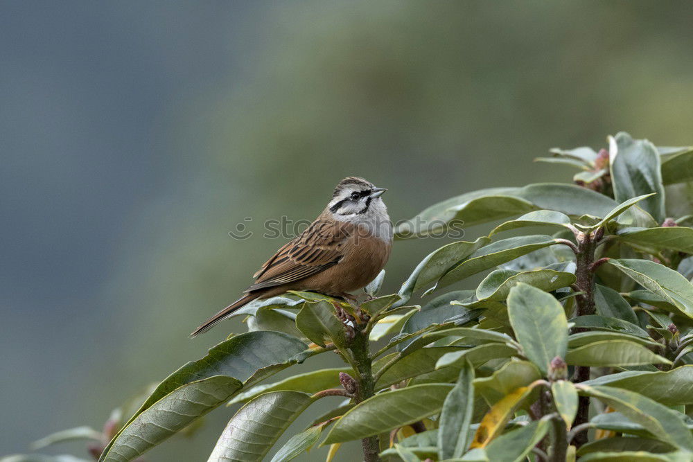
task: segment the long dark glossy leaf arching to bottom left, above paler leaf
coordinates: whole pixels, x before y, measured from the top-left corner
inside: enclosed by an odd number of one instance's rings
[[[249,387],[291,364],[301,362],[307,348],[308,345],[304,342],[281,332],[246,332],[222,341],[211,348],[207,356],[198,361],[188,362],[166,377],[137,413],[123,425],[119,434],[116,434],[105,448],[99,461],[109,460],[107,457],[112,450],[127,445],[127,442],[121,441],[121,433],[125,432],[141,413],[179,387],[216,375],[234,378],[242,382],[243,387]],[[172,410],[175,411],[175,408]]]

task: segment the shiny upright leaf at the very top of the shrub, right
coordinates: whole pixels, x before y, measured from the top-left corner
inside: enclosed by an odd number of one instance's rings
[[[614,197],[625,202],[644,194],[642,208],[661,223],[665,218],[665,193],[659,154],[647,140],[634,140],[625,132],[609,136],[609,160]]]

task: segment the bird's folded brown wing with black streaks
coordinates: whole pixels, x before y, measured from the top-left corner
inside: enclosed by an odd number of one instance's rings
[[[299,281],[336,265],[349,238],[350,225],[318,218],[294,240],[281,247],[256,272],[245,292]]]

